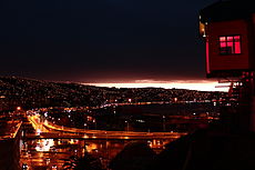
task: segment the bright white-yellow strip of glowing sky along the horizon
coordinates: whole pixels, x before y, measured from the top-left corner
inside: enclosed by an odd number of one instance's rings
[[[164,88],[164,89],[188,89],[198,91],[228,91],[230,83],[218,83],[217,81],[205,80],[187,80],[187,81],[151,81],[151,80],[136,80],[135,82],[105,82],[105,83],[83,83],[96,87],[109,88]],[[222,88],[220,88],[222,86]]]

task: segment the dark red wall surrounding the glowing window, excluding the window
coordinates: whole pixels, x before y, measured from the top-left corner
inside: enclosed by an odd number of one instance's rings
[[[215,70],[245,70],[248,63],[248,31],[245,20],[212,22],[207,24],[210,71]],[[241,36],[241,54],[220,54],[220,36]]]

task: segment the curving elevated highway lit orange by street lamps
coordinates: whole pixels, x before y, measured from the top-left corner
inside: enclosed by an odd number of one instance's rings
[[[68,128],[53,124],[49,121],[41,121],[40,116],[28,117],[35,129],[35,134],[28,134],[27,138],[44,139],[120,139],[120,140],[149,140],[149,139],[177,139],[185,136],[185,132],[135,132],[135,131],[106,131]]]

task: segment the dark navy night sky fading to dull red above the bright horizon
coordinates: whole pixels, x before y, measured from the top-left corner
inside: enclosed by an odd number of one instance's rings
[[[0,76],[204,79],[198,10],[215,0],[6,0]]]

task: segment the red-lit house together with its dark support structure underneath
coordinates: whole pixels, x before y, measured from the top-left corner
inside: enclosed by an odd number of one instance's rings
[[[215,2],[200,12],[200,34],[207,78],[230,82],[230,99],[237,98],[239,111],[233,126],[255,131],[255,7],[248,0]]]

